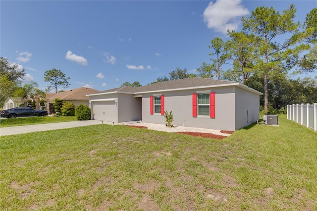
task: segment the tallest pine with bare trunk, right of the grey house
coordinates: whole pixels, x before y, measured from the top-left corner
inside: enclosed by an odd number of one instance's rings
[[[296,34],[299,24],[293,21],[295,17],[293,4],[280,14],[273,7],[257,7],[248,18],[242,18],[245,32],[254,34],[257,42],[257,54],[261,61],[256,68],[264,75],[264,113],[268,108],[268,75],[270,71],[281,68],[283,58],[290,47],[297,43],[297,39],[286,39],[282,43],[276,42],[285,34]]]

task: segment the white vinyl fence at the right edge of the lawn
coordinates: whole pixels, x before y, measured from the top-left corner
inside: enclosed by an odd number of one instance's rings
[[[293,104],[287,106],[287,119],[317,131],[317,104]]]

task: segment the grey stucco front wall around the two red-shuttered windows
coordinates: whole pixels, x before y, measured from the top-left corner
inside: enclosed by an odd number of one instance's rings
[[[215,118],[209,116],[192,116],[193,93],[215,93]],[[164,110],[172,111],[175,126],[201,127],[221,130],[235,130],[235,94],[234,87],[218,87],[190,91],[158,92],[164,95]],[[150,96],[142,95],[142,121],[165,124],[164,116],[150,114]]]

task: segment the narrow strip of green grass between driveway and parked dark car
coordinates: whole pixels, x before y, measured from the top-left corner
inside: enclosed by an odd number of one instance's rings
[[[46,124],[54,122],[77,121],[75,116],[33,116],[27,118],[1,119],[0,127],[23,126],[32,124]]]

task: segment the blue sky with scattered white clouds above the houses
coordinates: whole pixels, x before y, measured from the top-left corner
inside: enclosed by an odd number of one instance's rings
[[[44,72],[53,68],[70,77],[66,90],[103,91],[126,81],[144,86],[177,67],[195,73],[210,61],[211,40],[241,30],[242,16],[258,6],[282,11],[291,3],[301,22],[317,7],[315,0],[1,0],[0,54],[42,90],[50,85]]]

